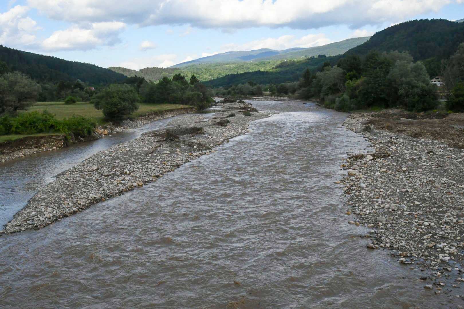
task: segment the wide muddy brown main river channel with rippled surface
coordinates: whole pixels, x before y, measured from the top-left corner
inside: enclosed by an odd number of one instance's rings
[[[155,183],[0,237],[0,307],[440,307],[419,271],[347,224],[333,182],[366,144],[346,114],[253,103],[284,113]]]

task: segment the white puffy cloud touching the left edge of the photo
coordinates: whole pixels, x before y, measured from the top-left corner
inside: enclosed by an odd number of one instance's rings
[[[27,11],[27,6],[15,6],[0,13],[0,44],[24,47],[36,43],[35,32],[40,28]]]

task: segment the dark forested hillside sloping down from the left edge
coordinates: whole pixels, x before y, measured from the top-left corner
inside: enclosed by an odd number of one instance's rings
[[[25,73],[39,82],[75,82],[79,79],[90,85],[98,85],[120,82],[126,78],[122,74],[93,64],[43,56],[2,45],[0,61],[5,62],[9,70]]]

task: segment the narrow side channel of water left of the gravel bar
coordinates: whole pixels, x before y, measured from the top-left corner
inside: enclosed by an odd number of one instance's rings
[[[182,115],[175,117],[182,117]],[[10,221],[13,215],[23,208],[40,188],[54,180],[54,176],[79,164],[98,151],[136,139],[143,132],[166,126],[171,119],[156,120],[139,128],[118,132],[102,139],[0,163],[0,226],[3,227]]]

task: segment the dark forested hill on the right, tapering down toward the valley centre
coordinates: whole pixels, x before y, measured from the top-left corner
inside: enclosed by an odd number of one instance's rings
[[[464,23],[456,23],[446,19],[412,20],[375,33],[367,42],[348,50],[341,56],[327,57],[326,60],[322,61],[319,58],[309,58],[288,62],[289,65],[286,68],[274,69],[269,72],[231,74],[213,79],[206,84],[211,87],[229,87],[248,81],[258,84],[296,82],[306,68],[314,73],[325,61],[335,65],[340,59],[351,55],[359,55],[364,58],[371,50],[379,52],[407,51],[412,56],[413,61],[421,60],[424,63],[430,76],[437,76],[442,74],[441,61],[448,59],[462,42],[464,42]]]

